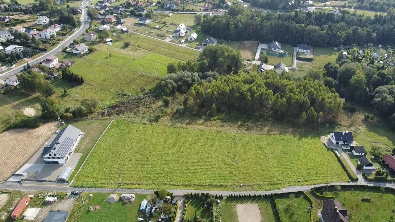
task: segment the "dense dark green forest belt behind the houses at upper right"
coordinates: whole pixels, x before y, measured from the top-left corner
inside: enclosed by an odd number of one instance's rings
[[[312,46],[339,47],[345,43],[395,43],[395,15],[300,12],[266,14],[245,9],[242,4],[229,7],[225,16],[208,16],[201,30],[224,40],[279,41],[307,43]]]

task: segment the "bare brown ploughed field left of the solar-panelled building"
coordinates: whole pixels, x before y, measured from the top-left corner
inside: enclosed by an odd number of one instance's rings
[[[0,134],[0,182],[12,173],[44,144],[57,129],[57,123],[47,123],[35,129],[14,129]]]

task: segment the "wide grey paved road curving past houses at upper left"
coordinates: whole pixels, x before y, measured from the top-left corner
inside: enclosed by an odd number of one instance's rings
[[[53,56],[56,53],[62,51],[62,49],[64,47],[70,45],[71,42],[73,42],[76,38],[78,38],[78,36],[80,36],[81,34],[83,34],[83,32],[85,32],[85,30],[89,27],[89,19],[87,16],[87,9],[85,8],[86,6],[88,6],[88,2],[90,2],[90,0],[83,1],[82,6],[80,7],[82,10],[82,15],[81,15],[82,26],[77,30],[77,32],[73,33],[71,36],[69,36],[64,41],[62,41],[62,43],[60,43],[58,46],[56,46],[55,49],[52,49],[51,51],[44,53],[42,56],[36,58],[32,62],[29,62],[30,65],[37,64],[37,63],[41,62],[42,60],[44,60],[44,58],[46,58],[48,56]],[[23,65],[15,67],[11,70],[8,70],[8,71],[0,74],[0,79],[5,79],[5,78],[9,77],[10,75],[17,73],[19,71],[22,71],[22,70],[23,70]]]

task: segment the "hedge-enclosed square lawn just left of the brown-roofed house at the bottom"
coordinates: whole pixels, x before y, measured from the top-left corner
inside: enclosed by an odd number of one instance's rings
[[[304,195],[293,200],[289,196],[275,196],[275,201],[281,222],[310,221],[308,207],[311,203]]]

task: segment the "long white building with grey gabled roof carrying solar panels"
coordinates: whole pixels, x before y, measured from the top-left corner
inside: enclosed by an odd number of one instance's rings
[[[66,164],[71,153],[77,147],[84,133],[78,128],[68,125],[56,131],[55,138],[50,144],[44,145],[43,158],[45,164]]]

